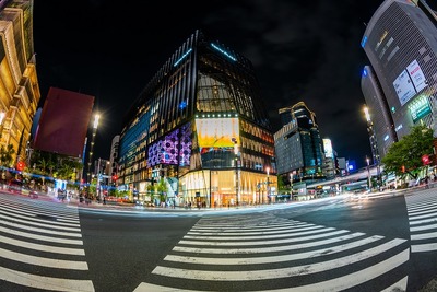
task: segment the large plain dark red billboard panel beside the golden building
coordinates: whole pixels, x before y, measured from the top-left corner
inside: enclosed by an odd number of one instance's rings
[[[94,96],[50,87],[36,129],[34,148],[82,157]]]

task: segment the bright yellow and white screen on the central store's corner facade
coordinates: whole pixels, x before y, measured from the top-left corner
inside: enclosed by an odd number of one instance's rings
[[[239,137],[238,118],[198,118],[196,129],[200,148],[234,147],[232,139]]]

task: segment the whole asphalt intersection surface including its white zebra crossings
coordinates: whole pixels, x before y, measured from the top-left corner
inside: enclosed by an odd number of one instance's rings
[[[420,291],[436,221],[436,189],[216,211],[0,194],[0,291]]]

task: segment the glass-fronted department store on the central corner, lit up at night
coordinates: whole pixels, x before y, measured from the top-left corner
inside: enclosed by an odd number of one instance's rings
[[[268,203],[276,194],[274,156],[251,62],[196,31],[125,116],[119,184],[133,199],[156,202],[164,182],[176,206]]]

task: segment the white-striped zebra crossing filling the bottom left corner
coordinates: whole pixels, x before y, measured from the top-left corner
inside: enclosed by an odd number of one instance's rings
[[[76,208],[0,194],[0,288],[94,291]]]

